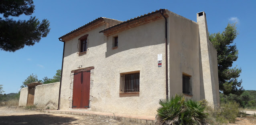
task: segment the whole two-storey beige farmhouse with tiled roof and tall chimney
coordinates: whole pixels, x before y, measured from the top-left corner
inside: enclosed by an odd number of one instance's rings
[[[219,103],[205,12],[197,22],[166,9],[127,21],[100,17],[59,40],[61,110],[156,115],[159,99],[176,93]]]

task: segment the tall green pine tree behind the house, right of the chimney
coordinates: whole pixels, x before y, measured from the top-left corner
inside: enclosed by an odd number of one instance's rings
[[[222,33],[209,35],[209,40],[217,50],[219,90],[225,95],[241,95],[244,92],[242,79],[238,81],[242,69],[232,68],[233,62],[238,58],[238,49],[233,43],[237,35],[236,24],[228,24]]]

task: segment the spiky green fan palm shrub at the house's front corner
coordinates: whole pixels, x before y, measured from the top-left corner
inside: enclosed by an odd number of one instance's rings
[[[198,125],[205,123],[207,113],[198,101],[186,100],[183,95],[160,99],[157,119],[161,125]]]

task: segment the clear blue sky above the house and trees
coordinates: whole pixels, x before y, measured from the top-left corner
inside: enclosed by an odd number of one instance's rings
[[[256,90],[256,1],[254,0],[34,0],[36,16],[47,18],[51,31],[34,46],[16,52],[0,50],[0,85],[5,93],[17,93],[32,73],[39,79],[51,78],[61,69],[63,42],[59,37],[98,17],[128,20],[148,12],[168,9],[196,22],[197,12],[205,11],[210,33],[223,31],[228,22],[237,22],[240,33],[235,40],[239,50],[234,66],[242,68],[240,79],[246,90]],[[15,19],[29,19],[20,16]]]

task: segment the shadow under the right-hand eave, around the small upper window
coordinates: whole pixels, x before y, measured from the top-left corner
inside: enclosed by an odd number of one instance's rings
[[[113,49],[114,36],[118,36],[118,47]],[[165,43],[164,19],[136,26],[106,37],[106,58],[112,56],[113,54],[130,50],[133,48],[163,44]],[[154,46],[150,49],[152,49],[151,51],[153,51],[158,48],[155,48]],[[165,48],[163,47],[161,49]],[[146,52],[149,51],[150,50],[146,50]]]

